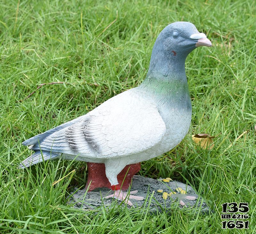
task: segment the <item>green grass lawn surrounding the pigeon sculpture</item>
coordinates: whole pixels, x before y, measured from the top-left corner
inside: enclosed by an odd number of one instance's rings
[[[253,0],[2,0],[0,9],[1,234],[255,233]],[[180,20],[194,23],[213,47],[198,48],[186,60],[193,108],[188,135],[174,150],[143,162],[139,174],[190,184],[212,213],[173,209],[152,215],[147,207],[114,205],[109,211],[74,209],[66,197],[84,186],[86,163],[54,161],[17,169],[30,154],[22,141],[139,85],[157,35]],[[36,90],[49,82],[64,84]],[[197,147],[195,133],[218,135],[213,150]],[[224,202],[249,202],[249,230],[221,230]]]

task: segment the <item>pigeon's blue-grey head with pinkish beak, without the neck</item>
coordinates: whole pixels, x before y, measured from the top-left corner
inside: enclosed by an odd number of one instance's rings
[[[199,33],[189,22],[175,22],[166,26],[156,39],[154,47],[162,50],[168,58],[184,57],[199,46],[211,47],[204,33]]]

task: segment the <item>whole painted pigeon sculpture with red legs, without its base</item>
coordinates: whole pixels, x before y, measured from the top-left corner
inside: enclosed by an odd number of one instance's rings
[[[22,144],[35,152],[20,168],[59,157],[85,161],[87,187],[109,187],[114,193],[106,198],[132,205],[123,190],[140,170],[140,162],[171,150],[188,132],[192,109],[185,59],[200,46],[212,44],[192,23],[166,26],[156,39],[147,76],[140,86],[24,141]],[[128,179],[121,188],[124,178]],[[129,198],[143,200],[134,195]]]

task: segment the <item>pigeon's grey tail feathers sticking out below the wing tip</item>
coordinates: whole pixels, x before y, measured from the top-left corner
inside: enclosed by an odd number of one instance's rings
[[[28,158],[26,158],[20,163],[19,168],[22,169],[25,167],[29,167],[31,165],[35,165],[37,163],[40,163],[42,161],[46,161],[49,159],[57,159],[59,156],[60,156],[59,154],[56,154],[54,152],[49,152],[45,150],[42,150],[42,151],[36,150],[34,154],[32,154],[31,156],[29,156]]]

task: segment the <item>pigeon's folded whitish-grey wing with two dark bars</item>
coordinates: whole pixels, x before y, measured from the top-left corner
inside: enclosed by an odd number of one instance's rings
[[[139,92],[125,91],[82,116],[78,122],[46,136],[33,150],[81,157],[128,156],[161,141],[165,123],[155,104]]]

